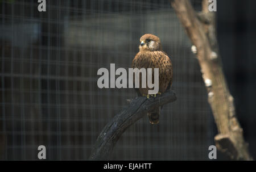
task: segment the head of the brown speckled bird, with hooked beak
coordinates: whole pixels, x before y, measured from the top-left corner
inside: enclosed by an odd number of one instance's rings
[[[145,34],[139,39],[139,51],[160,51],[162,46],[159,37],[152,34]]]

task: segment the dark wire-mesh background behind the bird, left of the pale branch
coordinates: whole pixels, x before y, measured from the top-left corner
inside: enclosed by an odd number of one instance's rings
[[[136,96],[98,89],[97,70],[130,68],[139,37],[153,33],[174,62],[178,99],[159,125],[147,116],[119,139],[110,160],[208,160],[217,134],[200,67],[170,2],[0,1],[0,159],[86,160],[106,123]],[[191,1],[196,10],[201,1]],[[218,41],[237,116],[255,158],[255,2],[217,1]],[[218,160],[228,159],[217,154]]]

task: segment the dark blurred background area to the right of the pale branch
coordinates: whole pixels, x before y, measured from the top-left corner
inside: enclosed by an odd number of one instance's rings
[[[256,1],[217,1],[217,34],[238,120],[256,158]]]

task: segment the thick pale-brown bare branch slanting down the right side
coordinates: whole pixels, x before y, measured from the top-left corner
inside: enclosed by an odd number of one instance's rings
[[[234,160],[252,160],[243,139],[243,130],[236,118],[233,97],[222,72],[215,12],[208,11],[208,0],[203,0],[202,12],[199,14],[188,0],[171,0],[171,5],[197,49],[197,59],[208,91],[208,102],[218,128],[218,135],[214,137],[217,149]]]

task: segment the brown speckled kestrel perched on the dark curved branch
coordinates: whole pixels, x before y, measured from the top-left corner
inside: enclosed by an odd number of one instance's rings
[[[139,78],[139,88],[135,88],[138,96],[145,96],[147,98],[156,97],[169,90],[172,86],[173,79],[173,65],[171,58],[163,51],[160,39],[158,36],[146,33],[141,36],[139,44],[139,52],[136,54],[132,61],[132,68],[151,68],[152,69],[152,82],[154,82],[154,68],[159,69],[159,92],[155,95],[148,95],[148,87],[141,87],[141,80]],[[133,82],[134,79],[133,79]],[[151,124],[159,123],[159,115],[162,107],[157,107],[148,112],[148,119]]]

